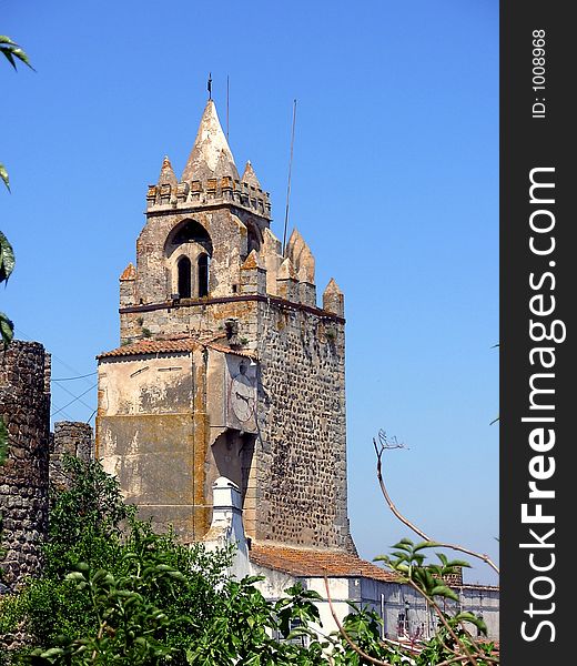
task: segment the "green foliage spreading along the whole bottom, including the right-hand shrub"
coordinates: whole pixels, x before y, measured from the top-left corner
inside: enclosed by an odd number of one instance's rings
[[[11,656],[12,665],[496,662],[493,644],[479,644],[466,628],[484,630],[479,618],[441,608],[441,602],[451,606],[456,598],[444,576],[467,563],[443,553],[438,563],[427,563],[425,553],[437,547],[435,542],[404,538],[391,555],[378,557],[438,613],[439,628],[431,640],[418,649],[384,640],[378,615],[353,604],[341,630],[324,636],[316,592],[296,584],[280,599],[265,599],[261,578],[227,577],[231,553],[180,545],[174,534],[155,534],[138,521],[99,462],[65,457],[63,475],[65,487],[52,490],[43,574],[0,602],[0,637],[18,626],[36,639],[36,647]]]

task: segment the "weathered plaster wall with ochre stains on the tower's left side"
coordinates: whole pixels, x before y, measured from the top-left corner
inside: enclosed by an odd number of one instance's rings
[[[128,502],[185,539],[209,527],[204,497],[205,369],[202,353],[109,359],[99,366],[97,457]]]

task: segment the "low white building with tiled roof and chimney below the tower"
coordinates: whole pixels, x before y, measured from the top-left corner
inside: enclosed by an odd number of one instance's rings
[[[244,535],[239,488],[221,477],[214,483],[213,492],[213,522],[204,542],[209,548],[235,543],[237,551],[231,574],[236,578],[264,576],[259,585],[265,598],[277,599],[284,596],[287,587],[301,582],[305,589],[314,589],[323,598],[317,604],[322,633],[330,634],[337,629],[337,625],[328,604],[328,595],[340,622],[351,612],[350,602],[354,602],[373,608],[379,615],[383,637],[427,639],[435,633],[435,610],[427,607],[424,597],[409,585],[399,583],[395,574],[348,553],[252,545]],[[482,616],[487,625],[488,638],[498,639],[499,588],[462,582],[451,586],[459,603],[447,604],[447,609],[458,607]],[[475,635],[477,629],[470,627],[470,630]]]

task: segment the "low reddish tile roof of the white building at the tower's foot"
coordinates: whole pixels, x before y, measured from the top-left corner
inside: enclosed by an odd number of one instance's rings
[[[254,564],[293,576],[317,577],[326,574],[328,577],[362,577],[398,583],[397,576],[391,572],[350,553],[253,543],[249,556]]]

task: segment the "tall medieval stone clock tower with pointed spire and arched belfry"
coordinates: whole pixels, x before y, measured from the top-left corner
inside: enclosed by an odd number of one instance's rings
[[[179,180],[146,195],[120,276],[121,346],[99,356],[97,456],[126,498],[186,539],[212,484],[242,491],[256,543],[354,551],[346,505],[343,294],[316,303],[295,230],[284,254],[250,162],[239,175],[209,100]]]

